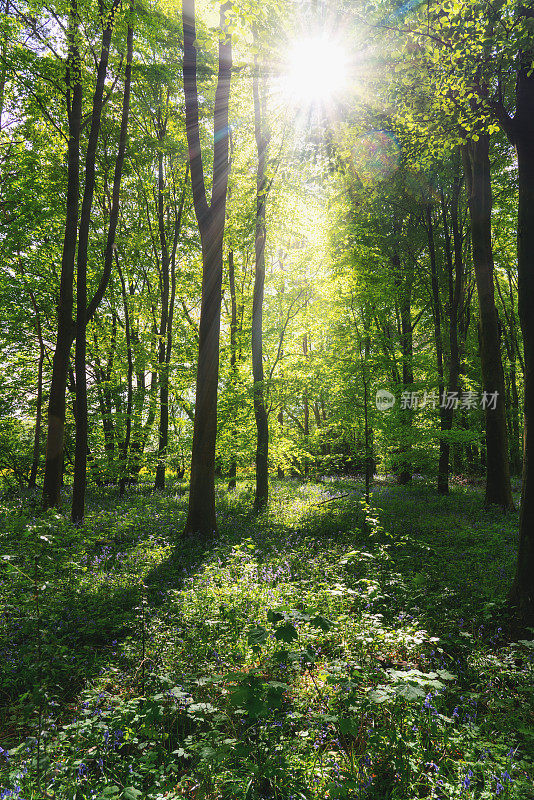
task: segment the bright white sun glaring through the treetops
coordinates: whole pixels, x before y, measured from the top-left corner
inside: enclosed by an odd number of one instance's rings
[[[284,94],[296,106],[324,106],[347,87],[348,61],[343,46],[327,35],[300,39],[290,47]]]

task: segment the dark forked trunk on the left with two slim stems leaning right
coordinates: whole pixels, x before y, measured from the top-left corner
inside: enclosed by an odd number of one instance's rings
[[[106,27],[102,34],[102,49],[98,64],[95,93],[93,95],[93,108],[91,114],[91,128],[89,131],[89,141],[87,143],[87,153],[85,157],[85,186],[80,214],[80,231],[78,238],[78,261],[76,278],[76,448],[74,455],[74,483],[72,489],[72,521],[81,524],[85,515],[85,488],[87,484],[87,341],[86,328],[89,318],[87,306],[87,251],[89,245],[89,228],[91,224],[91,209],[93,207],[93,195],[96,182],[96,150],[100,135],[100,122],[102,118],[102,108],[104,101],[104,86],[109,62],[109,48],[115,21],[115,13],[118,0],[113,0],[111,9],[108,11]],[[128,129],[128,113],[130,108],[130,80],[132,70],[132,50],[133,50],[133,28],[128,26],[127,36],[127,57],[126,70],[124,76],[124,93],[122,104],[121,128],[119,134],[119,147],[115,160],[115,174],[113,179],[113,198],[109,218],[108,236],[106,241],[106,251],[104,254],[104,274],[111,273],[113,262],[113,246],[115,244],[115,233],[119,218],[119,196],[122,177],[122,167],[124,154],[126,152],[126,134]],[[107,281],[106,281],[107,285]],[[100,287],[99,287],[100,288]],[[105,291],[105,287],[104,287]],[[103,293],[102,293],[103,295]],[[94,303],[91,303],[92,313],[94,313]]]

